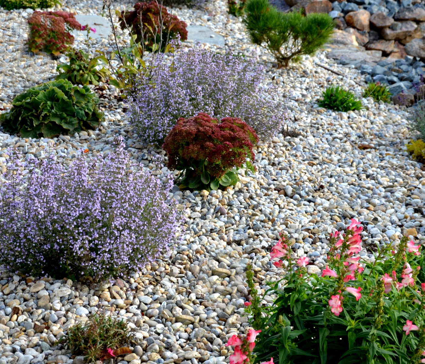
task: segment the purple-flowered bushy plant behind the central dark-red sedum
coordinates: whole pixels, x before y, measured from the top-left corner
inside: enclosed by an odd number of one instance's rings
[[[207,113],[236,117],[268,139],[287,119],[274,87],[264,87],[264,68],[249,57],[225,55],[195,45],[178,50],[171,64],[159,55],[129,98],[129,116],[144,141],[161,145],[177,119]]]

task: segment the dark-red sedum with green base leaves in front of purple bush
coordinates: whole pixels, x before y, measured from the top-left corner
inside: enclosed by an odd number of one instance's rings
[[[239,181],[234,167],[241,167],[246,158],[254,159],[252,143],[257,142],[255,130],[241,119],[218,121],[199,113],[178,119],[163,149],[168,154],[168,168],[184,172],[181,188],[212,190]]]

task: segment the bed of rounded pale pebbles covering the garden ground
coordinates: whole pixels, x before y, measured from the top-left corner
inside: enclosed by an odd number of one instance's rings
[[[63,7],[80,14],[96,14],[101,8],[99,1],[68,1]],[[18,93],[56,74],[56,60],[26,51],[29,12],[0,11],[0,100],[6,110]],[[222,1],[174,12],[188,24],[210,26],[235,52],[257,49]],[[77,40],[76,46],[84,44]],[[94,41],[95,47],[108,51],[110,45]],[[364,226],[363,241],[370,247],[360,252],[365,259],[373,260],[372,245],[401,234],[424,239],[425,175],[422,164],[405,151],[411,137],[405,108],[369,98],[363,99],[365,110],[360,112],[323,110],[316,102],[326,85],[344,84],[360,96],[361,87],[354,82],[364,77],[359,70],[327,59],[326,50],[277,69],[258,51],[259,62],[266,65],[265,82],[275,84],[282,98],[292,92],[289,124],[302,135],[277,134],[261,142],[255,149],[258,172],[240,171],[234,188],[174,192],[186,217],[181,242],[169,256],[130,278],[92,288],[69,279],[36,280],[0,271],[0,364],[82,364],[81,357],[71,358],[57,341],[68,327],[99,309],[110,310],[136,330],[139,342],[132,354],[119,358],[121,364],[229,362],[231,352],[224,344],[248,327],[246,265],[254,266],[261,292],[266,282],[277,280],[280,269],[272,265],[269,252],[280,231],[289,234],[294,257],[309,257],[310,274],[326,264],[326,234],[345,228],[350,218]],[[25,158],[42,158],[47,150],[73,158],[86,148],[94,156],[109,153],[113,137],[122,135],[134,160],[160,178],[170,174],[156,162],[158,156],[167,162],[164,151],[143,144],[128,125],[116,90],[96,87],[96,92],[106,116],[97,130],[53,140],[0,133],[2,171],[7,169],[7,147],[14,146]]]

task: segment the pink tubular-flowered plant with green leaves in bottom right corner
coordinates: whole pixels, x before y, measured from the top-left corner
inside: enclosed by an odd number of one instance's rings
[[[327,264],[318,275],[307,274],[313,262],[297,256],[281,235],[270,252],[282,268],[282,279],[265,293],[275,299],[271,305],[258,296],[248,270],[245,309],[261,330],[255,362],[425,363],[421,245],[402,237],[368,247],[369,256],[362,234],[356,220],[329,234]]]

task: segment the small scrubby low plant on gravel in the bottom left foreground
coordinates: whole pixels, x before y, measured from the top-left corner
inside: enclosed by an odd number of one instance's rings
[[[112,318],[107,313],[95,313],[87,323],[72,326],[62,336],[61,342],[74,355],[84,356],[86,363],[105,360],[121,354],[131,353],[128,348],[133,339],[132,329],[127,322]]]

